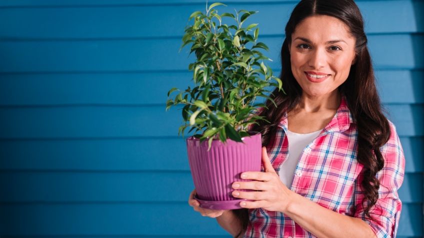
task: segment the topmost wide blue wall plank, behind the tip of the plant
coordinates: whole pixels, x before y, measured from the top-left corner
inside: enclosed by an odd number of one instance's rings
[[[37,4],[30,7],[30,4]],[[151,4],[153,3],[153,4]],[[169,4],[171,3],[171,4]],[[179,3],[179,4],[178,4]],[[284,26],[296,1],[231,1],[218,6],[218,13],[233,12],[233,8],[256,10],[245,24],[259,23],[260,34],[283,34]],[[2,1],[0,6],[7,3]],[[181,37],[193,11],[204,11],[205,1],[26,1],[25,7],[0,7],[2,38],[26,39],[96,39],[131,37]],[[85,5],[86,4],[86,5]],[[111,7],[109,4],[113,4]],[[85,6],[84,6],[85,5]],[[35,5],[34,5],[35,6]],[[358,2],[365,20],[367,34],[424,32],[421,1],[361,1]],[[166,12],[166,17],[163,17]],[[54,19],[54,20],[51,20]],[[172,24],[169,22],[172,21]],[[228,18],[224,23],[233,24]],[[64,27],[65,26],[65,27]]]

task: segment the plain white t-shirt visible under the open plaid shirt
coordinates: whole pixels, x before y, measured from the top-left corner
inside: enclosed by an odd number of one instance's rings
[[[302,153],[303,149],[319,135],[321,131],[322,129],[307,134],[298,134],[287,129],[289,153],[288,158],[281,165],[279,178],[288,189],[291,189],[291,182],[293,182],[294,171],[296,170],[300,154]]]

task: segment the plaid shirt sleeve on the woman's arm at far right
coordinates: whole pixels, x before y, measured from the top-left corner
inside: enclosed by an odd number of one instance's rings
[[[384,158],[384,167],[377,172],[376,177],[380,182],[378,189],[377,203],[369,210],[369,215],[376,221],[365,217],[362,200],[364,199],[360,184],[363,180],[363,173],[360,173],[355,185],[355,218],[366,222],[375,233],[377,238],[396,237],[397,226],[399,224],[402,202],[397,190],[402,185],[405,168],[405,158],[400,144],[396,128],[392,122],[390,124],[390,138],[381,148]],[[366,205],[366,202],[364,203]]]

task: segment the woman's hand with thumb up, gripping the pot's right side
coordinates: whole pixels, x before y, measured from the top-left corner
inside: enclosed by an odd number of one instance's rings
[[[272,168],[266,148],[262,147],[262,164],[264,172],[244,172],[241,179],[255,180],[249,182],[234,182],[232,196],[239,199],[254,200],[243,201],[242,208],[263,208],[267,211],[285,212],[292,193],[280,180],[279,175]],[[238,187],[237,187],[238,186]],[[238,189],[256,190],[254,192],[238,191]]]

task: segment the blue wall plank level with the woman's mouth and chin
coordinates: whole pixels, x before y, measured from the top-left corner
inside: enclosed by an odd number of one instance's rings
[[[383,103],[424,103],[423,70],[375,74]],[[164,104],[170,88],[187,86],[194,86],[192,72],[2,74],[0,105]]]

